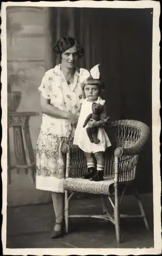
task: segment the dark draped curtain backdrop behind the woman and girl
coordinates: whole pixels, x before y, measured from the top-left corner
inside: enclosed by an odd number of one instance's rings
[[[49,8],[51,49],[57,39],[71,35],[85,49],[78,67],[101,63],[102,96],[112,120],[134,119],[152,127],[152,13],[150,8]],[[141,154],[138,182],[141,191],[152,191],[151,140]]]

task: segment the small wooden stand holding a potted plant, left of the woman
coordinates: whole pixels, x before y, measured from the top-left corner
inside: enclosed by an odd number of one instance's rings
[[[36,164],[29,130],[29,120],[32,116],[38,116],[36,112],[8,112],[8,183],[11,184],[11,169],[17,168],[17,173],[21,168],[25,168],[25,173],[32,170],[33,182],[35,182]],[[10,136],[9,129],[13,128],[14,153],[16,165],[10,163]]]

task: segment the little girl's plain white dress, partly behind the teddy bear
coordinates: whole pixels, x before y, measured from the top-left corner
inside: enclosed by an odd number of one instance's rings
[[[98,144],[90,141],[86,131],[88,124],[83,127],[87,116],[92,113],[93,102],[89,102],[87,99],[81,99],[80,103],[82,103],[82,107],[74,134],[73,144],[78,145],[81,150],[87,153],[94,154],[97,152],[104,152],[106,147],[111,146],[111,142],[103,127],[99,127],[98,129],[98,139],[100,140]],[[102,104],[102,99],[98,97],[96,103]]]

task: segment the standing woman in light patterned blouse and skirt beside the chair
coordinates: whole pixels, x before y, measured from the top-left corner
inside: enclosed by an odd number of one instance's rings
[[[72,140],[78,120],[82,89],[76,62],[84,55],[84,49],[75,38],[63,37],[53,50],[61,64],[45,73],[38,89],[43,116],[37,142],[36,188],[51,191],[56,216],[51,238],[57,238],[64,228],[65,171],[61,146]]]

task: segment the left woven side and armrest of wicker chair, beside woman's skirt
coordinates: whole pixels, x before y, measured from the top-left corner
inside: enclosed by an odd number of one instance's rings
[[[63,144],[61,151],[66,155],[65,177],[81,177],[87,171],[85,154],[77,145]]]

